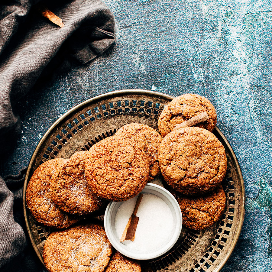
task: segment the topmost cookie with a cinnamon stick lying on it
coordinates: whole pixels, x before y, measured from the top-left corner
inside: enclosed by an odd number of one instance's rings
[[[160,134],[165,137],[173,131],[176,125],[205,111],[209,115],[209,119],[196,126],[212,131],[216,125],[216,111],[208,99],[193,93],[186,93],[174,98],[160,114],[158,120]]]

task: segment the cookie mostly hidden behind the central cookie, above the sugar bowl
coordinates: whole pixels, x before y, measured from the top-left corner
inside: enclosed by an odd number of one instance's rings
[[[154,128],[132,123],[119,128],[115,137],[130,138],[137,142],[139,148],[144,150],[150,159],[148,180],[153,180],[160,173],[158,150],[162,137]]]

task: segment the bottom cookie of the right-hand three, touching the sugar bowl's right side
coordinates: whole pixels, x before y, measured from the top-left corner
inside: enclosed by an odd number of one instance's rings
[[[206,195],[192,197],[170,191],[175,196],[182,212],[182,224],[186,228],[202,230],[209,228],[221,218],[226,195],[222,185]]]

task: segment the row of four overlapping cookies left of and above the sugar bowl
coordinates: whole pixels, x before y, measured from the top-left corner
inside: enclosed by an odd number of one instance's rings
[[[65,228],[101,211],[108,201],[136,196],[160,173],[161,140],[154,128],[128,124],[89,151],[44,162],[28,183],[28,208],[38,222]]]

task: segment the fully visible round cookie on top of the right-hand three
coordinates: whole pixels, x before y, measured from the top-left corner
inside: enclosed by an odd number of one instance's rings
[[[210,131],[186,127],[167,134],[159,147],[160,170],[176,191],[195,195],[214,189],[227,170],[225,148]]]

